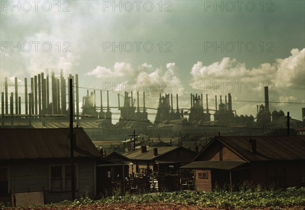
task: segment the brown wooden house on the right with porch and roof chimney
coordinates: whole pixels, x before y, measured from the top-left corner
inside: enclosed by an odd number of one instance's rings
[[[195,171],[200,191],[243,181],[273,187],[305,186],[305,136],[216,136],[181,170]]]

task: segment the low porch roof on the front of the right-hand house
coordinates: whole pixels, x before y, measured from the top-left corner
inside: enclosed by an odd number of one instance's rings
[[[244,164],[247,164],[247,162],[242,160],[196,161],[180,168],[214,168],[231,170]]]

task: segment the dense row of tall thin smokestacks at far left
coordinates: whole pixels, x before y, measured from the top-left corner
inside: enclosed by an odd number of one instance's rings
[[[46,77],[44,73],[31,78],[28,81],[24,78],[24,84],[18,83],[18,78],[15,77],[15,82],[8,83],[8,78],[5,77],[4,92],[2,92],[2,115],[9,115],[9,103],[10,103],[10,115],[21,116],[21,96],[24,95],[24,114],[45,116],[45,115],[67,115],[69,114],[69,107],[67,106],[67,96],[69,94],[69,79],[73,81],[73,98],[76,99],[78,104],[78,75],[69,75],[66,80],[63,77],[63,69],[60,69],[59,79],[55,77],[54,70],[51,71],[51,77],[49,77],[49,70],[46,69]],[[76,88],[75,88],[76,87]],[[9,96],[9,89],[11,96]],[[20,92],[24,92],[20,93]],[[14,94],[15,93],[15,94]],[[15,97],[14,97],[15,95]],[[74,97],[76,96],[76,97]],[[51,100],[50,100],[51,97]],[[73,106],[75,107],[75,99]],[[15,100],[15,111],[14,111]],[[68,97],[70,100],[70,97]],[[70,101],[68,101],[70,103]],[[79,107],[76,106],[76,113],[78,117]]]

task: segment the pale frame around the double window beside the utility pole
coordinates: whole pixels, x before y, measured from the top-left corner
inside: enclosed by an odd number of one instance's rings
[[[52,189],[52,183],[51,183],[51,176],[52,176],[52,167],[53,166],[59,166],[62,167],[62,189],[60,190],[53,190]],[[71,188],[66,189],[66,166],[71,166],[70,164],[50,164],[49,165],[49,191],[50,192],[64,192],[64,191],[71,191]],[[78,164],[74,164],[75,168],[75,177],[76,177],[76,183],[75,183],[75,190],[79,190],[79,168]],[[70,177],[67,177],[70,178]],[[70,178],[71,179],[71,178]]]

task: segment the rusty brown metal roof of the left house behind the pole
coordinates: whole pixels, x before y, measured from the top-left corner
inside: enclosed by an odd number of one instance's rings
[[[82,128],[76,134],[74,157],[101,157]],[[0,129],[0,160],[70,157],[69,128]]]

